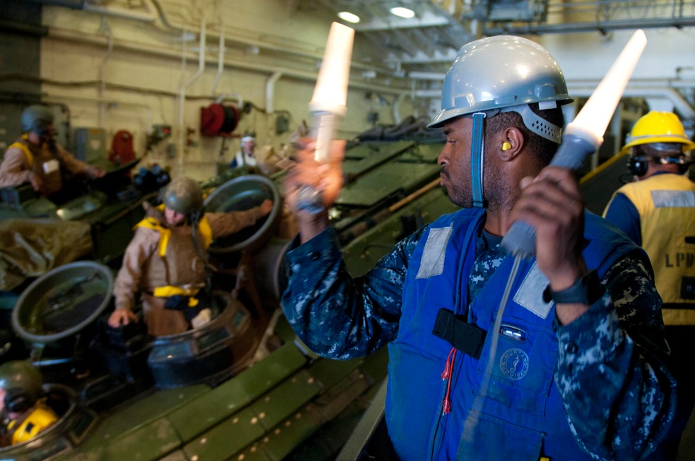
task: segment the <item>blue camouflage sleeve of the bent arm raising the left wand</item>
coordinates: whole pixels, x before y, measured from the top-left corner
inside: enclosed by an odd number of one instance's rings
[[[408,262],[422,232],[399,242],[358,278],[347,273],[332,228],[289,251],[282,308],[300,339],[338,360],[367,355],[393,340]]]

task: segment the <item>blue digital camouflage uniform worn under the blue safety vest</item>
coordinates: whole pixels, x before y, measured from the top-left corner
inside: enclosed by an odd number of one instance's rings
[[[366,355],[393,342],[399,334],[409,262],[427,231],[425,227],[402,240],[366,276],[354,279],[347,273],[332,228],[300,246],[295,242],[286,256],[288,288],[282,305],[297,335],[316,353],[338,360]],[[471,298],[503,259],[496,244],[488,248],[478,238],[466,283]],[[559,352],[553,385],[571,414],[569,430],[577,442],[567,446],[569,455],[562,459],[639,459],[641,453],[656,449],[670,424],[675,384],[662,362],[668,348],[661,301],[651,268],[643,261],[632,253],[619,259],[603,276],[607,287],[603,298],[569,325],[555,321]],[[539,292],[543,288],[539,286]],[[420,375],[418,369],[409,377],[391,376],[389,383],[422,379]],[[596,376],[603,377],[601,389],[590,388]],[[605,385],[606,380],[613,386]],[[618,396],[616,406],[598,404],[604,396]],[[425,416],[424,421],[407,424],[419,425],[429,434],[429,421]]]

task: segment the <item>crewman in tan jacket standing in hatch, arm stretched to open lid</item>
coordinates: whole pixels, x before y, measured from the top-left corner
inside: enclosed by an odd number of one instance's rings
[[[108,319],[113,328],[137,321],[135,293],[150,335],[174,335],[204,324],[210,310],[199,305],[206,284],[205,251],[215,237],[224,237],[268,215],[272,201],[245,211],[203,214],[200,185],[190,178],[169,183],[158,207],[136,225],[116,277],[115,310]]]

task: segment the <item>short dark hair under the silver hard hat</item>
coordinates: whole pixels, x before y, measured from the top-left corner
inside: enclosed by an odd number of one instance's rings
[[[545,110],[540,110],[538,108],[538,103],[530,103],[528,106],[534,114],[538,115],[543,120],[549,121],[555,126],[564,126],[564,115],[560,106]],[[521,131],[525,142],[542,165],[548,165],[550,160],[553,160],[553,156],[555,156],[559,144],[541,135],[537,135],[526,128],[523,119],[521,119],[521,115],[517,112],[501,112],[486,119],[485,132],[491,135],[509,127],[518,128],[518,130]]]

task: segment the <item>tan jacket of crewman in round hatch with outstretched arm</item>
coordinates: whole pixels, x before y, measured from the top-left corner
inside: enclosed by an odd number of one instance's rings
[[[149,208],[147,215],[158,219],[166,227],[162,212]],[[238,232],[255,224],[260,217],[260,207],[205,215],[213,238]],[[166,262],[163,262],[159,255],[161,232],[138,226],[123,255],[122,266],[113,287],[117,309],[132,310],[135,306],[135,293],[138,290],[143,292],[141,299],[145,323],[151,335],[173,335],[188,329],[188,323],[181,312],[164,310],[164,300],[152,296],[154,289],[163,285],[196,285],[205,281],[204,261],[195,252],[190,238],[190,226],[177,226],[170,230],[172,245],[167,248]],[[177,250],[172,254],[170,251],[174,247]]]

